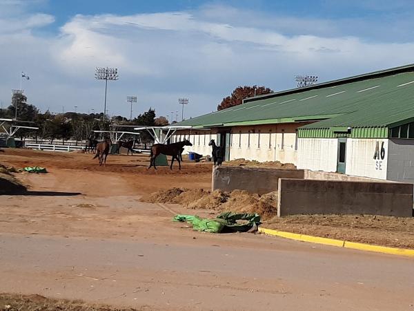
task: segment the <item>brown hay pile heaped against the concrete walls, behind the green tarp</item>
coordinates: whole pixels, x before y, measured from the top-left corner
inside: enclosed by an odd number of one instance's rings
[[[249,194],[244,190],[225,192],[172,188],[157,191],[141,200],[151,203],[181,204],[188,209],[257,213],[264,220],[277,215],[277,191],[259,196],[258,194]]]

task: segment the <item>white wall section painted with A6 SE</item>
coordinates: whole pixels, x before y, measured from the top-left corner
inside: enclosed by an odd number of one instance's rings
[[[382,144],[384,142],[384,144]],[[377,143],[381,153],[384,147],[384,159],[374,159]],[[388,140],[348,138],[346,140],[345,173],[353,176],[364,176],[387,179]]]

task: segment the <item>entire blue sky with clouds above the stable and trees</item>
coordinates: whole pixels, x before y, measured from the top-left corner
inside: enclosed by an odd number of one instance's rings
[[[217,109],[234,88],[295,87],[414,63],[411,0],[0,0],[0,104],[22,88],[42,112],[155,109],[181,120]]]

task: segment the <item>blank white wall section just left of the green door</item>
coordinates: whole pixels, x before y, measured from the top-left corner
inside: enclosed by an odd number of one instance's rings
[[[297,168],[337,171],[337,138],[299,138]]]

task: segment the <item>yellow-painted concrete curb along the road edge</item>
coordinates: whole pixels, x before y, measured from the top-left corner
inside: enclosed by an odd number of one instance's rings
[[[364,243],[355,243],[349,241],[335,240],[334,238],[319,238],[318,236],[307,236],[306,234],[295,234],[291,232],[277,231],[259,227],[259,232],[268,234],[269,236],[279,236],[281,238],[289,238],[290,240],[317,243],[323,245],[331,245],[336,247],[345,247],[351,249],[359,249],[368,252],[377,252],[383,254],[400,255],[414,257],[414,249],[396,248],[378,246]]]

